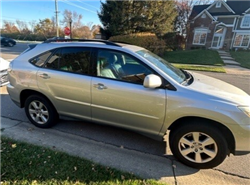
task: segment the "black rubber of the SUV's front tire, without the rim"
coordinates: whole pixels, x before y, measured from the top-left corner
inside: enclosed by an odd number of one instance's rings
[[[179,140],[184,135],[190,132],[202,132],[214,139],[218,147],[218,153],[214,159],[206,163],[194,163],[186,159],[180,153],[179,148],[178,148]],[[223,137],[223,134],[216,127],[213,127],[212,125],[207,125],[207,124],[203,125],[201,123],[183,125],[177,128],[172,134],[170,134],[170,148],[174,156],[179,161],[181,161],[182,163],[190,167],[198,168],[198,169],[207,169],[207,168],[213,168],[215,166],[218,166],[224,161],[228,152],[227,142],[225,138]]]

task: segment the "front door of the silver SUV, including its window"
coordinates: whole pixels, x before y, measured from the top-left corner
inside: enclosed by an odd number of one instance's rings
[[[157,135],[165,118],[166,91],[143,86],[143,79],[151,73],[128,54],[99,50],[97,75],[91,84],[92,119]]]

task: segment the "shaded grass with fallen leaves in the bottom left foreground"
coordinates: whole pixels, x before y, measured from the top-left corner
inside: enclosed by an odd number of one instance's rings
[[[0,136],[0,184],[158,185],[53,149]]]

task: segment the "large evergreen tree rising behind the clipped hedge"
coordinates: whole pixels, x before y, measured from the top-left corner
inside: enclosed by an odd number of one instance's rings
[[[174,0],[106,0],[98,13],[109,36],[153,32],[164,35],[173,31],[177,16]]]

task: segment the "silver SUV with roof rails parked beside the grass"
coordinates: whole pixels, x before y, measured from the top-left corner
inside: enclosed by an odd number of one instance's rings
[[[212,168],[230,153],[250,152],[248,94],[177,69],[141,47],[47,41],[10,63],[9,81],[11,99],[38,127],[68,116],[161,140],[169,133],[174,156],[194,168]]]

